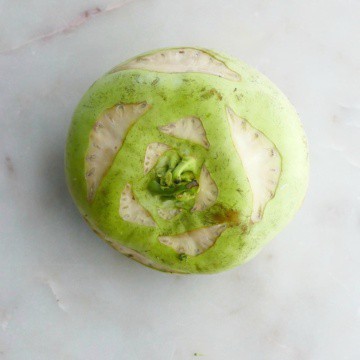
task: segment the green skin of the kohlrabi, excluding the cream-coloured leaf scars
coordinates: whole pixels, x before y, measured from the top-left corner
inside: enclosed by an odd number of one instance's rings
[[[293,218],[308,184],[306,138],[286,97],[264,75],[248,65],[223,54],[202,51],[239,73],[241,80],[231,81],[201,73],[147,70],[107,73],[80,101],[66,146],[68,186],[89,225],[105,240],[131,248],[169,272],[216,273],[248,261]],[[115,104],[143,101],[151,104],[151,109],[130,128],[94,200],[88,202],[84,158],[95,121]],[[262,220],[255,224],[250,221],[252,191],[232,143],[226,106],[263,132],[275,144],[282,159],[275,196],[267,203]],[[159,126],[187,116],[201,119],[210,143],[208,150],[158,130]],[[144,174],[144,155],[147,145],[152,142],[167,144],[178,154],[189,154],[194,159],[188,159],[193,163],[186,163],[180,185],[174,183],[174,168],[167,183],[163,180],[159,185],[158,173],[166,175],[164,168],[159,166],[166,153],[156,168]],[[165,163],[169,165],[168,161]],[[217,184],[219,195],[212,207],[190,212],[196,184],[185,191],[179,187],[191,183],[193,177],[198,179],[203,163]],[[136,198],[151,213],[157,227],[126,222],[119,216],[119,199],[127,183],[132,185]],[[190,194],[186,195],[188,199],[183,206],[178,203],[183,211],[171,220],[162,219],[157,209],[164,198],[174,199],[179,193]],[[178,254],[158,240],[162,235],[176,235],[224,222],[227,229],[212,247],[197,256]]]

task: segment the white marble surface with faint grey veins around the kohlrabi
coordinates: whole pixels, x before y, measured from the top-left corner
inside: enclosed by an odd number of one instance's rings
[[[359,16],[357,0],[0,0],[0,359],[359,359]],[[64,183],[83,92],[118,62],[175,45],[264,72],[310,143],[295,220],[214,276],[117,254]]]

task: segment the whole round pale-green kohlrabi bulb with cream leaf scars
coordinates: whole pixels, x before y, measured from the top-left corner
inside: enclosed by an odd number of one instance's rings
[[[157,270],[215,273],[294,216],[307,144],[286,97],[206,49],[137,56],[96,81],[68,135],[70,192],[89,226]]]

